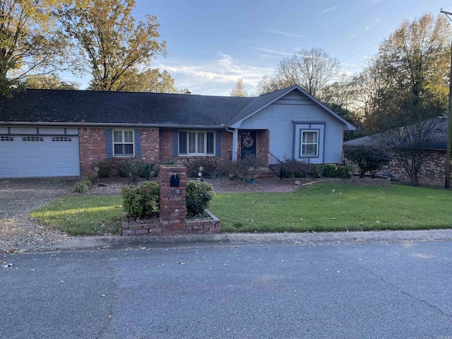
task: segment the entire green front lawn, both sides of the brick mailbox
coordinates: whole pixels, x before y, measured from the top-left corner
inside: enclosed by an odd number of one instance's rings
[[[117,234],[121,196],[66,196],[31,213],[72,235]],[[294,193],[215,194],[222,232],[420,230],[452,227],[452,192],[411,186],[313,184]]]

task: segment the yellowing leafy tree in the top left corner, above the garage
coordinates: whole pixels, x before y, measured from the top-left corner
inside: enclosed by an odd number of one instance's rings
[[[25,78],[68,69],[69,44],[53,11],[70,0],[0,1],[0,94]],[[68,66],[69,65],[69,66]]]

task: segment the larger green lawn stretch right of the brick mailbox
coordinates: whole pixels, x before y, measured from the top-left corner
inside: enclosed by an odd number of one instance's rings
[[[419,230],[452,226],[452,192],[314,184],[295,193],[215,194],[222,232]]]

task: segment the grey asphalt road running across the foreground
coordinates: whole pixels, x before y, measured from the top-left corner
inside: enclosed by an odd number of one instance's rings
[[[452,338],[451,242],[0,259],[0,338]]]

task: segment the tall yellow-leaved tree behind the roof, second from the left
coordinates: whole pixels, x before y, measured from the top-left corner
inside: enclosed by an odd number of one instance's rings
[[[67,35],[90,61],[91,89],[118,90],[127,76],[149,71],[150,61],[166,55],[157,17],[147,14],[135,25],[134,6],[134,0],[76,0],[59,11]]]

